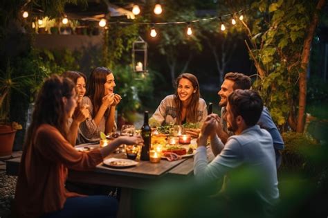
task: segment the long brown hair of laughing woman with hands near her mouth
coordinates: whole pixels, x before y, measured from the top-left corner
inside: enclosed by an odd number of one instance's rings
[[[102,97],[104,97],[104,84],[107,81],[107,75],[111,74],[111,70],[106,67],[95,68],[89,78],[86,86],[86,96],[91,99],[93,105],[93,115],[97,114],[102,105]]]

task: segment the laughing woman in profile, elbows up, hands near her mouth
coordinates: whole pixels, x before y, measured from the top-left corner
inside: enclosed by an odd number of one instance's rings
[[[115,110],[122,98],[113,92],[115,78],[113,72],[105,67],[92,71],[86,87],[82,104],[89,105],[91,119],[82,122],[80,129],[91,142],[100,139],[100,131],[105,134],[116,131]]]

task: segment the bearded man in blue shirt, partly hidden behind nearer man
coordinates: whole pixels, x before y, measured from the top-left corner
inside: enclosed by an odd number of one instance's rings
[[[219,106],[221,107],[221,125],[219,125],[217,129],[217,135],[221,138],[223,143],[226,143],[228,137],[233,135],[232,131],[228,131],[226,120],[223,119],[224,114],[226,113],[228,96],[236,89],[250,89],[250,85],[250,78],[242,73],[227,73],[224,77],[221,89],[217,93],[221,97],[219,102]],[[284,149],[284,141],[282,140],[282,136],[275,126],[275,123],[266,107],[263,107],[257,124],[271,134],[271,137],[273,138],[273,147],[275,149],[275,162],[277,168],[280,167],[282,161],[280,151]]]

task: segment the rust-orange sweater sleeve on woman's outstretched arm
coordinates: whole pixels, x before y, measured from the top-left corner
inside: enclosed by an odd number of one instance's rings
[[[63,164],[73,170],[90,170],[102,162],[99,149],[78,152],[55,127],[43,125],[35,137],[37,151],[53,163]]]

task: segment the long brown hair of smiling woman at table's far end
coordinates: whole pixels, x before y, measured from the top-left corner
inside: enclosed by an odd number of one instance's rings
[[[179,75],[178,78],[176,78],[176,93],[174,96],[174,102],[175,102],[176,111],[177,111],[176,122],[179,125],[181,125],[181,122],[182,122],[182,120],[181,120],[182,104],[181,104],[181,100],[178,95],[177,87],[179,86],[179,82],[182,78],[189,80],[192,83],[192,87],[194,87],[194,89],[196,90],[195,93],[192,93],[192,97],[191,97],[192,99],[190,100],[188,110],[185,114],[185,118],[186,118],[187,122],[198,122],[197,110],[198,110],[199,97],[200,97],[199,83],[198,83],[196,76],[192,75],[191,73],[182,73],[181,75]]]

